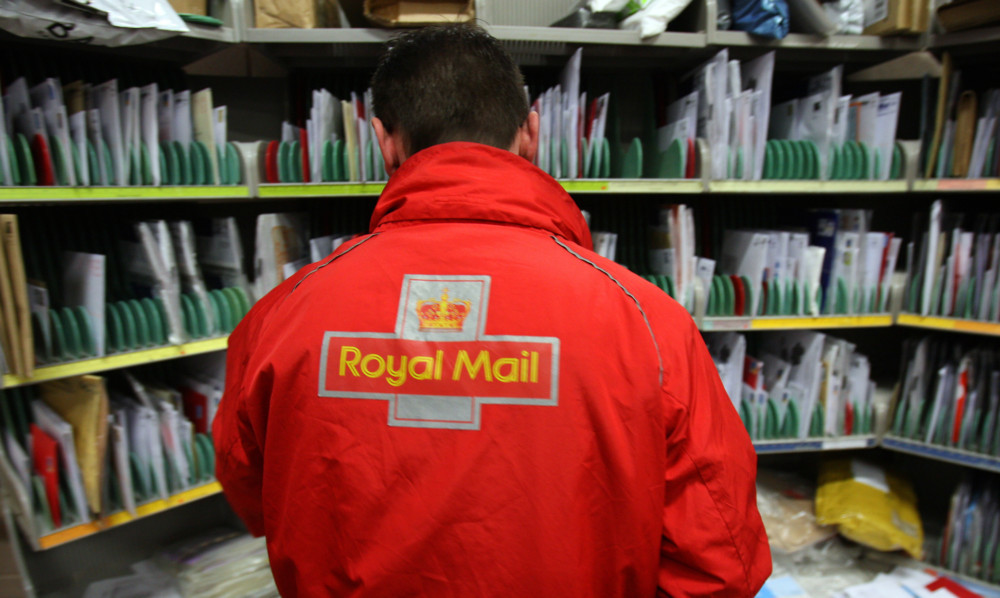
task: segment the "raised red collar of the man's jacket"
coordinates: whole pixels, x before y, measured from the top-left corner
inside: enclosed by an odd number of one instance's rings
[[[478,143],[443,143],[409,157],[382,191],[371,230],[450,220],[537,228],[593,248],[580,209],[555,179]]]

